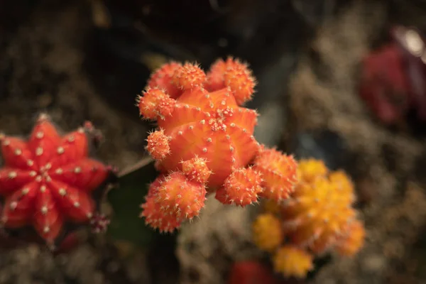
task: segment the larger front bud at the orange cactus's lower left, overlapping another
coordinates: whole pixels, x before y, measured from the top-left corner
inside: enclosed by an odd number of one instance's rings
[[[204,185],[188,180],[181,172],[175,172],[158,187],[156,202],[161,204],[163,214],[192,219],[204,207],[206,193]]]

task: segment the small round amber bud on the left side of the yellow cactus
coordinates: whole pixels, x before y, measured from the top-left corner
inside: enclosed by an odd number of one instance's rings
[[[273,251],[283,242],[281,221],[273,214],[261,214],[253,222],[253,241],[259,249]]]

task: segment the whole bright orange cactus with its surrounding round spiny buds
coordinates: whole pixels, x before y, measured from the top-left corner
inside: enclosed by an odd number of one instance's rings
[[[244,107],[256,82],[246,64],[217,60],[207,74],[191,63],[156,70],[137,106],[156,121],[146,150],[161,175],[151,184],[141,217],[173,231],[200,213],[207,193],[244,207],[258,197],[281,200],[297,180],[293,157],[253,137],[257,112]]]

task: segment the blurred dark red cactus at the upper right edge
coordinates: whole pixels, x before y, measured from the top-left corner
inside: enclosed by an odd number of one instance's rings
[[[393,41],[364,58],[360,96],[384,124],[398,124],[414,110],[426,121],[426,41],[417,31],[392,28]]]

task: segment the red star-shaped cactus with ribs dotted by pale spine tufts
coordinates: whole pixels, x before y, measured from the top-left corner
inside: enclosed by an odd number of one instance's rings
[[[106,180],[109,168],[88,158],[84,128],[60,136],[48,116],[41,115],[28,141],[1,135],[0,142],[5,228],[32,225],[53,244],[65,222],[89,223],[95,213],[91,192]]]

